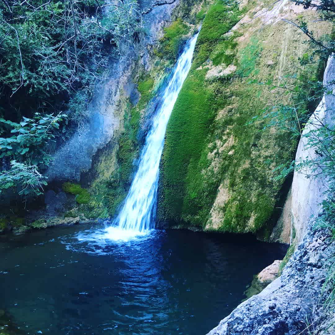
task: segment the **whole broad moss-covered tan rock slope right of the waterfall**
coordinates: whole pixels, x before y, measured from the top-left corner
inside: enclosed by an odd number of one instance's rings
[[[268,121],[251,121],[270,106],[294,101],[294,92],[275,86],[290,75],[316,80],[320,64],[300,65],[313,50],[302,32],[271,10],[260,15],[269,5],[249,2],[239,10],[215,2],[207,11],[167,126],[160,221],[255,233],[272,215],[284,183],[273,179],[273,170],[292,159],[297,143],[277,127],[263,131]],[[296,17],[289,7],[280,8],[280,15]],[[304,15],[311,21],[316,13]],[[319,35],[330,32],[322,24],[317,28]],[[274,85],[264,84],[269,80]]]

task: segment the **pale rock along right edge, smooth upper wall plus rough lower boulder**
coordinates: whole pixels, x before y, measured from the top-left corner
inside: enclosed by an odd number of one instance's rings
[[[324,74],[324,86],[333,92],[334,71],[335,59],[330,57]],[[334,103],[334,95],[326,94],[310,121],[313,122],[315,118],[327,123],[331,121],[334,118]],[[304,135],[307,131],[308,128],[299,142],[296,160],[314,152],[313,147],[306,144]],[[312,324],[316,326],[322,323],[324,267],[327,268],[335,246],[329,242],[329,231],[313,229],[311,215],[316,217],[319,214],[319,201],[323,199],[326,189],[324,176],[310,179],[294,173],[292,214],[297,232],[295,241],[299,241],[294,254],[279,278],[260,294],[238,306],[208,334],[293,335],[302,334]]]

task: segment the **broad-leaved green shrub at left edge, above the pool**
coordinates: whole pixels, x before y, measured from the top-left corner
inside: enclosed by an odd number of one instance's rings
[[[18,193],[40,195],[46,177],[39,169],[48,166],[51,155],[47,152],[49,141],[54,140],[54,132],[66,115],[35,114],[32,119],[23,117],[20,123],[0,119],[6,128],[0,137],[0,158],[4,162],[0,176],[0,192],[3,189],[16,187]],[[10,166],[6,164],[10,160]]]

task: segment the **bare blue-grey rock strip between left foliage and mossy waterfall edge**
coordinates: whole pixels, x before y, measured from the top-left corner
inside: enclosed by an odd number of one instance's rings
[[[120,107],[121,101],[130,98],[134,95],[133,91],[136,91],[132,83],[132,70],[138,55],[145,61],[147,46],[157,40],[162,27],[169,22],[172,11],[178,4],[179,0],[166,3],[140,2],[141,9],[151,8],[143,17],[149,34],[143,43],[132,46],[124,56],[113,62],[109,79],[96,89],[89,105],[89,121],[56,151],[54,161],[46,172],[49,182],[79,181],[80,174],[91,168],[92,158],[97,150],[113,141],[116,132],[123,127],[124,108]]]

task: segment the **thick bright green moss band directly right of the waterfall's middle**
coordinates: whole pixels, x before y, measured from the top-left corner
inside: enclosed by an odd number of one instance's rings
[[[204,87],[203,71],[195,70],[192,74],[185,80],[170,117],[162,157],[163,206],[170,217],[178,217],[185,210],[194,212],[198,208],[196,185],[201,179],[197,173],[198,162],[218,104],[214,93]],[[188,180],[190,183],[186,182]],[[186,185],[190,185],[188,190]],[[203,190],[206,194],[210,191]]]

